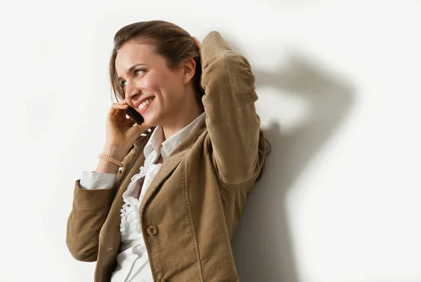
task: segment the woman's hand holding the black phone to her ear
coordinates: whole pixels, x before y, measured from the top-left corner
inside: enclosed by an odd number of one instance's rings
[[[113,103],[107,115],[106,141],[107,151],[116,152],[112,157],[124,157],[140,134],[151,128],[145,122],[142,125],[135,125],[133,118],[126,118],[126,100]],[[114,155],[114,154],[113,154]],[[122,156],[124,155],[124,156]]]

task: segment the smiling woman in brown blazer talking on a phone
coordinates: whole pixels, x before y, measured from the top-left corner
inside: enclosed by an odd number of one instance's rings
[[[137,22],[114,36],[109,73],[121,101],[75,183],[70,253],[97,261],[95,281],[238,281],[230,240],[265,162],[248,61],[216,31],[201,45]]]

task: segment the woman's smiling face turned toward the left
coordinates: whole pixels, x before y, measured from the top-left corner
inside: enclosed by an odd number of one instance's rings
[[[185,100],[182,68],[168,69],[165,57],[154,52],[154,45],[134,41],[120,48],[115,65],[127,104],[143,116],[145,124],[164,125],[177,119]]]

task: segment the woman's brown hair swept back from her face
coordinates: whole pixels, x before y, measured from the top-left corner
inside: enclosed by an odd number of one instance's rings
[[[119,49],[128,41],[150,39],[155,46],[155,52],[166,58],[168,69],[173,69],[185,59],[193,58],[196,62],[196,70],[192,79],[196,99],[203,108],[201,97],[203,91],[200,87],[201,62],[199,50],[192,36],[171,22],[152,20],[149,22],[135,22],[122,27],[114,35],[114,48],[109,59],[109,78],[112,90],[117,101],[125,99],[123,87],[119,83],[116,71],[116,56]]]

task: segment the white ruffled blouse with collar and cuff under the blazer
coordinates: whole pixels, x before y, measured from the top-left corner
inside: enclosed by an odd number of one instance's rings
[[[205,118],[202,113],[189,125],[163,141],[162,127],[158,126],[152,133],[143,152],[145,163],[140,172],[131,178],[131,183],[123,193],[121,208],[120,238],[121,248],[117,255],[117,266],[114,270],[112,282],[152,282],[152,271],[149,265],[145,241],[140,228],[140,203],[150,183],[158,173],[161,164],[155,164],[162,155],[166,160],[175,148],[196,128]],[[83,171],[80,186],[83,189],[108,189],[116,181],[116,174],[100,174],[94,171]],[[136,197],[139,195],[140,197]]]

